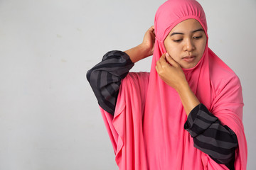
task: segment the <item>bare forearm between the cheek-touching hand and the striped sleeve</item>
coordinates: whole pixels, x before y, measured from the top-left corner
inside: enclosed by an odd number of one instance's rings
[[[193,93],[193,91],[191,91],[187,81],[184,82],[179,89],[177,89],[177,92],[181,98],[181,102],[183,104],[183,108],[186,111],[186,114],[189,115],[193,108],[200,104],[200,101],[198,101],[196,95]]]

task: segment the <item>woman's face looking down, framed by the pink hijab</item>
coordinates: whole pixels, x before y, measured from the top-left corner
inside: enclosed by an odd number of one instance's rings
[[[206,47],[206,33],[196,19],[178,23],[164,40],[164,47],[184,69],[198,64]]]

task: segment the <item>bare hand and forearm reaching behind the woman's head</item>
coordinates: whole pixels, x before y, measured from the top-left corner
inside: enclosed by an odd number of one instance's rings
[[[140,45],[124,51],[129,55],[132,62],[137,62],[146,57],[153,55],[154,42],[155,42],[154,26],[151,26],[149,30],[146,30],[143,41]]]

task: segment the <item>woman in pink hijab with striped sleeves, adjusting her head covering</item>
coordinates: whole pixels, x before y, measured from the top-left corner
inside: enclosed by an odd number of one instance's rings
[[[150,73],[128,74],[152,54]],[[119,169],[246,169],[240,81],[208,48],[197,1],[166,1],[141,45],[107,52],[87,79]]]

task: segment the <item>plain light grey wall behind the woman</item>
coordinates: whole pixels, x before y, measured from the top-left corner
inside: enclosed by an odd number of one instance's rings
[[[107,51],[139,45],[163,2],[0,0],[0,170],[117,169],[85,74]],[[209,47],[240,77],[256,169],[256,1],[199,2]]]

